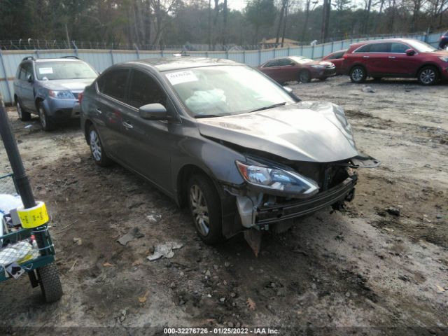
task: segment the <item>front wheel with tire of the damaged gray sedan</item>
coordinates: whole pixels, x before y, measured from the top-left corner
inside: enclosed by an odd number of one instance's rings
[[[209,245],[223,241],[221,200],[213,182],[207,176],[193,175],[187,193],[193,223],[202,241]]]

